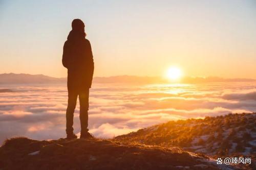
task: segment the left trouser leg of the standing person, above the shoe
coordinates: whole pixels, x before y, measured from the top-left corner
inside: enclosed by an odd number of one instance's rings
[[[74,118],[74,112],[76,108],[76,100],[78,93],[74,90],[68,90],[69,92],[69,99],[68,99],[68,108],[66,112],[66,133],[73,134],[73,118]]]

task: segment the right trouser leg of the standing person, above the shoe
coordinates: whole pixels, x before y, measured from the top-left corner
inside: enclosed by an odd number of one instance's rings
[[[89,88],[79,92],[81,134],[88,132]]]

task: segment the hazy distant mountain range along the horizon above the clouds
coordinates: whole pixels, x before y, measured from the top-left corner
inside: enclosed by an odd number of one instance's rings
[[[0,74],[0,84],[27,84],[27,83],[66,83],[67,78],[54,78],[45,75],[30,74]],[[255,79],[224,79],[219,77],[184,77],[179,83],[208,83],[208,82],[255,82]],[[112,76],[94,77],[94,83],[170,83],[169,80],[161,77],[139,77],[139,76]]]

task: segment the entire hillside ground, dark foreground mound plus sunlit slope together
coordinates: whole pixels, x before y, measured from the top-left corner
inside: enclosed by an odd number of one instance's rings
[[[0,169],[256,169],[256,113],[170,121],[113,139],[11,138]],[[251,164],[217,158],[250,157]]]

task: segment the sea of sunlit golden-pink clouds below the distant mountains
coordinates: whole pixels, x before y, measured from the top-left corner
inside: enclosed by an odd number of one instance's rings
[[[66,136],[66,84],[1,85],[0,143],[6,138]],[[78,100],[79,101],[79,100]],[[89,129],[112,138],[168,120],[256,111],[256,83],[93,84]],[[79,102],[74,115],[79,135]]]

